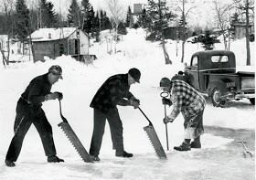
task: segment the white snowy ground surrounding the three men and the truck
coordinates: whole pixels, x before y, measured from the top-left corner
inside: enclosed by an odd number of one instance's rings
[[[220,44],[218,45],[221,48]],[[59,104],[48,101],[43,105],[48,121],[53,128],[54,140],[59,157],[64,164],[48,164],[36,129],[31,126],[23,143],[16,167],[5,166],[5,154],[13,136],[16,101],[27,87],[28,82],[37,75],[45,73],[53,64],[63,69],[63,80],[54,85],[52,91],[64,94],[62,111],[70,125],[80,137],[80,141],[89,149],[92,133],[92,109],[89,107],[92,96],[101,83],[116,73],[125,73],[136,67],[141,70],[140,84],[132,86],[131,91],[140,99],[141,108],[155,125],[155,130],[165,145],[164,106],[161,104],[158,89],[162,77],[171,77],[177,70],[184,69],[180,61],[180,51],[176,57],[176,47],[180,43],[170,41],[167,45],[172,66],[164,64],[162,49],[157,43],[144,41],[141,29],[132,30],[117,45],[120,53],[108,55],[106,45],[94,45],[92,49],[98,55],[93,65],[86,66],[69,57],[48,60],[45,63],[17,63],[9,68],[0,68],[0,179],[237,179],[255,178],[255,159],[243,158],[242,146],[238,140],[247,141],[247,146],[254,154],[255,149],[255,108],[250,101],[230,101],[225,108],[214,108],[210,103],[204,114],[206,132],[202,136],[201,150],[180,153],[173,151],[173,146],[183,140],[183,118],[168,124],[170,151],[167,160],[158,160],[149,143],[143,127],[148,124],[138,110],[131,107],[119,107],[123,120],[124,146],[127,152],[134,154],[131,159],[117,158],[112,151],[109,126],[106,124],[101,146],[101,162],[84,164],[75,152],[64,133],[58,127]],[[245,47],[242,40],[233,42],[233,51],[238,57],[238,65],[246,62]],[[254,48],[254,43],[251,44]],[[186,61],[200,47],[187,44]],[[254,51],[252,64],[254,65]],[[254,67],[249,67],[254,70]],[[248,69],[248,67],[246,67]],[[171,111],[171,109],[167,109]],[[2,162],[2,163],[1,163]]]

